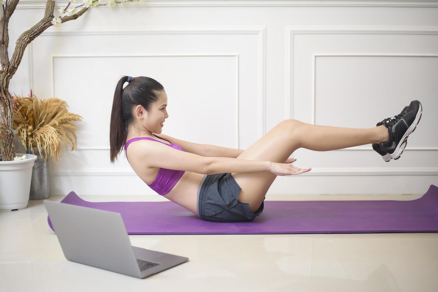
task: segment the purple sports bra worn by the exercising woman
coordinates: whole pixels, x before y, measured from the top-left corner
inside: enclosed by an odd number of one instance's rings
[[[154,135],[154,134],[152,134]],[[158,137],[156,135],[154,135],[157,138],[160,138],[162,140],[166,140],[163,139],[162,137]],[[160,142],[162,144],[166,144],[172,148],[184,151],[183,148],[178,145],[178,144],[172,144],[172,142],[170,142],[169,140],[166,140],[167,142],[170,143],[164,143],[158,140],[155,140],[153,138],[150,137],[135,137],[132,139],[129,139],[126,144],[125,144],[125,156],[126,156],[126,149],[128,148],[128,145],[133,142],[133,141],[137,141],[140,139],[150,139],[152,141],[157,141]],[[128,157],[126,156],[126,159],[128,159]],[[129,161],[129,160],[128,160]],[[181,178],[181,176],[183,176],[185,170],[174,170],[174,169],[166,169],[166,168],[160,168],[157,174],[157,177],[155,178],[154,182],[150,185],[148,185],[152,190],[155,190],[155,192],[157,192],[159,195],[165,195],[166,193],[169,193],[169,191],[173,188],[173,186],[175,186],[178,182],[178,180]]]

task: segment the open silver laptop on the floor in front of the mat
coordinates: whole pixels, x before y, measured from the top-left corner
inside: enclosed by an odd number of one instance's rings
[[[67,260],[146,278],[189,258],[131,246],[117,212],[44,200]]]

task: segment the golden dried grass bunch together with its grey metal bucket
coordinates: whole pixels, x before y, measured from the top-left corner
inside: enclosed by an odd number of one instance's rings
[[[58,164],[61,147],[65,142],[73,151],[77,136],[76,127],[70,122],[82,117],[68,112],[67,102],[57,98],[39,100],[35,95],[13,98],[13,129],[17,133],[26,153],[37,155],[32,170],[29,199],[38,200],[49,197],[49,174],[47,160]],[[70,132],[74,139],[67,133]]]

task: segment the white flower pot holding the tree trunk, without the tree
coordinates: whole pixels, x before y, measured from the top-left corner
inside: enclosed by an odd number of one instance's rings
[[[0,161],[0,211],[24,209],[29,202],[32,169],[36,155],[26,155],[24,160]]]

